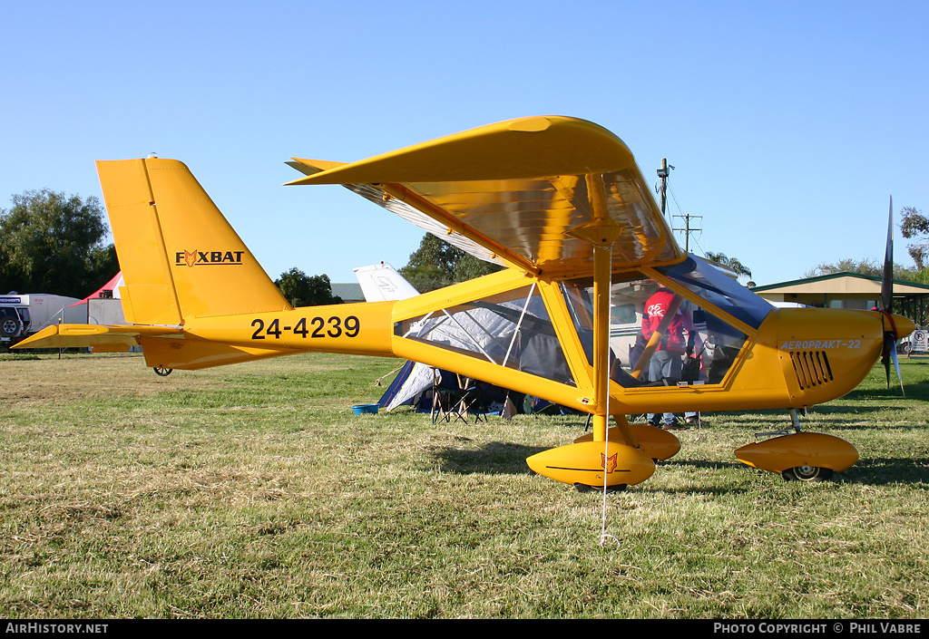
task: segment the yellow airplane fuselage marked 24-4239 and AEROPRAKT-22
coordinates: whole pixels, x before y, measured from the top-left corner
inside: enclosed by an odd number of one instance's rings
[[[704,374],[703,379],[672,379],[665,385],[614,376],[611,414],[812,406],[853,389],[881,355],[885,327],[880,313],[770,308],[753,328],[660,273],[644,269],[633,279],[615,277],[637,286],[660,279],[662,286],[690,300],[692,313],[712,314],[695,331],[698,340],[713,339],[714,322],[725,325],[727,334],[738,333],[739,340],[729,348],[725,373],[713,379]],[[230,363],[239,354],[255,359],[303,351],[397,357],[593,411],[593,366],[577,321],[571,320],[576,309],[569,307],[566,290],[562,282],[503,271],[397,302],[189,318],[180,339],[142,339],[152,367],[198,369]],[[898,325],[908,321],[897,318]],[[430,322],[435,326],[425,331]],[[486,330],[491,325],[495,334]],[[537,353],[533,342],[539,345]],[[715,362],[724,350],[715,346]]]

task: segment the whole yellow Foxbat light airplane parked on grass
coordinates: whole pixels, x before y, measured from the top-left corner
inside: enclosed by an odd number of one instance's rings
[[[130,323],[51,326],[18,347],[140,345],[156,372],[304,351],[412,359],[591,414],[591,434],[530,468],[622,489],[680,448],[625,417],[648,412],[788,409],[793,432],[739,460],[789,479],[845,470],[857,450],[800,432],[797,409],[853,389],[914,329],[886,312],[775,308],[684,253],[632,153],[583,120],[290,164],[304,174],[291,185],[344,185],[506,268],[409,299],[292,308],[187,166],[98,162]]]

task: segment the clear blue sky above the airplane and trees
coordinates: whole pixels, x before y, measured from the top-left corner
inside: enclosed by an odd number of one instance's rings
[[[291,156],[350,162],[513,117],[661,158],[691,250],[759,284],[883,259],[888,198],[929,213],[925,2],[7,3],[0,207],[100,197],[95,160],[187,163],[272,278],[354,281],[422,237]],[[675,220],[675,225],[679,220]],[[911,266],[897,234],[898,261]]]

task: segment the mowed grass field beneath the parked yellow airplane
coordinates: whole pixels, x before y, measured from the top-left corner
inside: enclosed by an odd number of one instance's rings
[[[606,502],[525,463],[579,417],[353,415],[398,363],[0,360],[0,617],[927,616],[929,359],[810,412],[831,482],[735,459],[786,411],[713,413]]]

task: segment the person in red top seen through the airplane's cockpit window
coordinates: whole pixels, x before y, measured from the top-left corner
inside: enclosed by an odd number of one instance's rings
[[[674,313],[674,316],[666,320],[669,313]],[[648,378],[652,382],[666,380],[667,383],[676,384],[681,379],[685,354],[693,353],[697,331],[694,329],[690,312],[682,301],[677,299],[675,293],[663,286],[653,293],[645,304],[645,312],[642,316],[642,338],[650,342],[652,335],[659,329],[662,329],[661,336],[648,362]],[[684,333],[687,333],[687,338]],[[694,416],[696,413],[687,414],[687,418]],[[648,424],[663,426],[665,429],[687,427],[678,422],[674,412],[665,412],[661,416],[657,413],[648,413]]]

